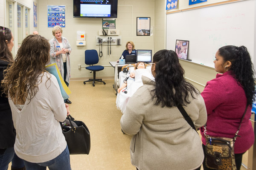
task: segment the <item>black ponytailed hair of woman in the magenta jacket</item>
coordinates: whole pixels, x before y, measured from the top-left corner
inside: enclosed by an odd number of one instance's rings
[[[232,70],[233,77],[243,87],[247,98],[247,105],[252,105],[256,93],[255,71],[247,48],[244,46],[227,45],[219,48],[218,54],[223,57],[224,62],[231,62],[230,70]]]

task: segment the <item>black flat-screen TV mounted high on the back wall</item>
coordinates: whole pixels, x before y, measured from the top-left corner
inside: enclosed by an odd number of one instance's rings
[[[73,17],[117,18],[117,0],[73,0]]]

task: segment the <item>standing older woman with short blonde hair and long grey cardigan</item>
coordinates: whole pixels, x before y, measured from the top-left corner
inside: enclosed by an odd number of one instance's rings
[[[70,53],[72,48],[67,38],[62,37],[62,28],[60,26],[55,26],[52,28],[52,35],[54,38],[49,41],[50,48],[50,63],[56,63],[58,69],[61,72],[61,77],[64,79],[67,87],[70,81]],[[64,100],[65,103],[71,104],[69,99]]]

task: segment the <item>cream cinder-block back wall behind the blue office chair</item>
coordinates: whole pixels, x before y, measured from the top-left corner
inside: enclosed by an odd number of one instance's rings
[[[108,46],[103,45],[103,57],[99,59],[100,65],[110,65],[109,61],[116,61],[125,50],[127,41],[132,40],[136,49],[152,49],[154,51],[153,36],[136,36],[136,17],[151,17],[151,26],[154,26],[154,0],[118,0],[118,18],[116,19],[116,29],[120,30],[122,36],[122,45],[112,45],[111,55],[108,55]],[[84,51],[87,49],[96,49],[99,52],[99,46],[96,45],[96,36],[99,36],[99,30],[102,28],[102,19],[91,18],[73,18],[72,0],[39,0],[39,34],[52,39],[52,28],[47,27],[47,5],[66,5],[66,27],[63,28],[63,37],[66,37],[73,49],[71,53],[71,77],[92,77],[85,68],[78,69],[78,65],[84,66]],[[76,31],[86,32],[86,46],[76,46]],[[111,36],[114,37],[114,36]],[[114,68],[105,67],[99,71],[97,77],[114,76]]]

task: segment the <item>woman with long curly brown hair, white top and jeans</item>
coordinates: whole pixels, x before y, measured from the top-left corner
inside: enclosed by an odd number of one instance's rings
[[[71,170],[59,125],[69,113],[68,105],[56,77],[45,71],[49,50],[44,37],[29,35],[2,81],[17,132],[14,150],[24,160],[26,170]]]

